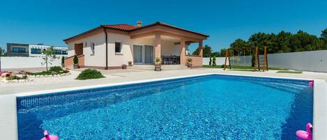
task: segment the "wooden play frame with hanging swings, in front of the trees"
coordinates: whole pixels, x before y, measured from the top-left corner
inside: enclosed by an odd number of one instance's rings
[[[254,57],[253,64],[250,56]],[[241,57],[243,57],[243,64],[241,63]],[[229,62],[229,69],[231,70],[232,65],[249,65],[249,63],[247,63],[247,57],[248,62],[250,62],[250,65],[253,67],[253,71],[268,71],[267,47],[264,47],[264,52],[261,54],[258,47],[236,47],[233,49],[227,49],[224,70],[227,68],[227,59]]]

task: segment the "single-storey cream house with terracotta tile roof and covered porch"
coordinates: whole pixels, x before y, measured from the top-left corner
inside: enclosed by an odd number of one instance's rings
[[[160,57],[163,65],[185,65],[191,58],[195,68],[202,66],[202,42],[208,38],[177,26],[155,22],[137,24],[100,25],[77,36],[63,40],[68,45],[67,67],[73,66],[77,55],[79,66],[85,68],[114,69],[132,61],[134,65],[152,65]],[[185,53],[188,45],[198,43],[199,55]]]

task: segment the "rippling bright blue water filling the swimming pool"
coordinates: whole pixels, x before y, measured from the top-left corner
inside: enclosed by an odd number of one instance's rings
[[[209,75],[17,98],[20,140],[296,139],[307,81]],[[300,111],[301,109],[301,111]]]

